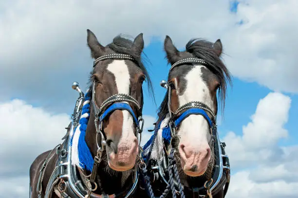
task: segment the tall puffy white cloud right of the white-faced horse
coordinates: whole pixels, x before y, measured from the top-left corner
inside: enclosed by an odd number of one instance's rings
[[[277,152],[279,139],[288,135],[284,128],[288,120],[291,99],[281,93],[269,93],[259,101],[252,121],[242,127],[243,134],[229,132],[223,139],[227,152],[233,153],[233,166],[249,166],[259,160],[271,161]],[[258,155],[257,153],[261,153]]]

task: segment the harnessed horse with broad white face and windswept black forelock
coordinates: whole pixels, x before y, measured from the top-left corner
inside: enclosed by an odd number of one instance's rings
[[[228,157],[217,133],[217,93],[224,107],[231,75],[221,60],[222,43],[191,39],[179,52],[169,36],[168,91],[142,165],[151,198],[223,198],[230,180]]]

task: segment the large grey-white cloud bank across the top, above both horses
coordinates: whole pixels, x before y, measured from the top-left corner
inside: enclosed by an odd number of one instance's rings
[[[6,95],[0,101],[21,95],[58,112],[71,108],[75,93],[67,90],[69,85],[72,81],[85,85],[92,69],[87,28],[103,44],[120,33],[143,32],[146,44],[152,37],[163,41],[169,35],[180,48],[193,37],[221,38],[228,54],[224,60],[234,76],[297,93],[298,29],[293,26],[298,23],[297,4],[250,0],[232,14],[229,0],[3,1],[0,73],[5,75],[0,84],[5,86],[0,91]],[[247,23],[235,25],[240,19]]]

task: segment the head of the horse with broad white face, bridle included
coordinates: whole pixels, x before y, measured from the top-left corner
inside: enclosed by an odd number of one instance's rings
[[[172,146],[179,151],[177,156],[187,176],[201,176],[207,170],[211,173],[217,92],[224,106],[226,83],[230,81],[230,74],[220,58],[221,40],[211,43],[191,39],[186,51],[180,52],[167,36],[164,49],[172,66],[165,98],[168,100],[164,102],[168,106],[162,108],[160,114],[169,113],[173,121]]]

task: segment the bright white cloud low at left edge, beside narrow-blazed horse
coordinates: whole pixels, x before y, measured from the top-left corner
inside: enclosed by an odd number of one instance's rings
[[[37,155],[61,143],[70,123],[67,114],[53,115],[15,99],[0,104],[0,176],[29,174]]]

